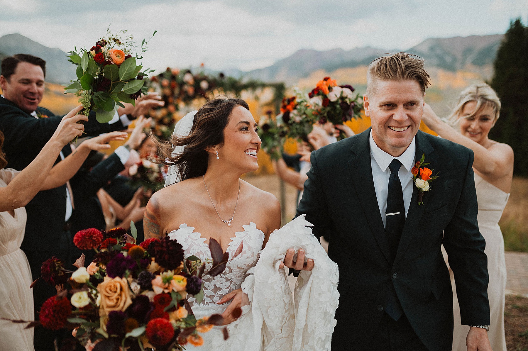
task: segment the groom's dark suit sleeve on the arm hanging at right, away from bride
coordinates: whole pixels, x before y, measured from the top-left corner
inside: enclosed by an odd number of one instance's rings
[[[444,248],[455,276],[461,324],[489,325],[486,242],[478,231],[477,194],[470,151],[463,189],[451,221],[444,230]]]

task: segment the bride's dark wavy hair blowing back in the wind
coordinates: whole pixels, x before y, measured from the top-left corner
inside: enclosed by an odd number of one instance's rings
[[[224,143],[224,128],[228,125],[231,112],[237,106],[249,111],[248,103],[242,99],[216,98],[198,110],[194,115],[193,127],[186,137],[172,136],[168,143],[158,144],[159,162],[178,166],[179,178],[199,177],[205,174],[209,155],[206,148]],[[150,131],[152,135],[152,131]],[[172,156],[174,146],[185,146],[183,153]]]

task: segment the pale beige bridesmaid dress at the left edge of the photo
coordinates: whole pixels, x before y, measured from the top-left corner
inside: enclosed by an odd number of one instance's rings
[[[18,173],[0,169],[0,187]],[[26,210],[17,208],[15,215],[0,212],[0,317],[34,320],[33,289],[30,265],[20,249],[26,226]],[[0,319],[0,351],[34,351],[33,328]]]

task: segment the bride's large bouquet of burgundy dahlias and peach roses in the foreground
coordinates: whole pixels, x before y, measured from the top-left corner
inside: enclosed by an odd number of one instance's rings
[[[134,226],[132,233],[137,235]],[[173,351],[187,343],[202,345],[200,333],[222,324],[220,315],[196,319],[187,302],[191,295],[200,303],[202,278],[225,269],[229,254],[214,239],[209,243],[212,259],[204,261],[195,256],[184,259],[182,245],[168,236],[136,245],[121,228],[82,230],[73,242],[81,250],[95,250],[96,257],[84,267],[82,255],[75,271],[57,258],[42,264],[42,278],[58,291],[40,310],[45,328],[73,329],[87,350]],[[233,257],[241,251],[242,244]]]

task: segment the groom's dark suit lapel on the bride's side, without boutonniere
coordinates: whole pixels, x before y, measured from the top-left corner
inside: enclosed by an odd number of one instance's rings
[[[363,212],[369,222],[370,230],[374,239],[387,259],[392,262],[392,254],[389,248],[389,242],[385,235],[383,221],[381,219],[380,207],[376,198],[374,189],[374,180],[372,177],[372,166],[370,161],[369,147],[370,128],[357,136],[357,139],[350,149],[354,156],[348,162],[348,168],[352,176],[357,197],[363,208]]]

